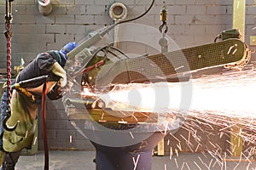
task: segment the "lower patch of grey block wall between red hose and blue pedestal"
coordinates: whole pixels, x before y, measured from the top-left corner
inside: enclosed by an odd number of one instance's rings
[[[92,144],[84,139],[68,121],[61,99],[46,102],[47,133],[50,150],[94,150]],[[38,148],[43,149],[42,117],[38,121]]]

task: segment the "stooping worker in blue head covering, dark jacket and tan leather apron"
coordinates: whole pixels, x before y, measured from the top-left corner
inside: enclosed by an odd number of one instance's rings
[[[64,66],[67,61],[67,53],[77,47],[76,42],[68,42],[60,51],[52,50],[38,54],[36,59],[20,71],[15,78],[15,83],[31,80],[35,77],[48,76],[47,95],[49,99],[61,98],[61,89],[70,88],[67,83],[67,75]],[[14,131],[3,128],[3,120],[7,116],[8,93],[5,89],[1,99],[1,129],[0,129],[0,163],[2,170],[13,170],[19,159],[20,151],[24,148],[31,149],[36,120],[38,114],[38,100],[42,97],[44,82],[38,87],[28,87],[26,91],[37,99],[32,102],[25,94],[12,89],[10,100],[11,116],[6,122],[9,127],[17,124]],[[57,87],[57,88],[55,88]],[[18,122],[18,123],[17,123]]]

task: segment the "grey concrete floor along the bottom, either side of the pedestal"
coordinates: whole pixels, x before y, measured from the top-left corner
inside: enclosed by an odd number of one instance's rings
[[[95,170],[94,151],[49,151],[50,170]],[[20,156],[17,170],[44,169],[44,152],[34,156]],[[180,153],[179,156],[153,156],[152,170],[256,170],[256,161],[216,161],[210,155]],[[106,169],[109,170],[109,169]]]

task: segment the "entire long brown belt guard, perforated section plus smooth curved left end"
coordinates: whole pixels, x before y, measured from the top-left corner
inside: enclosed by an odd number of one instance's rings
[[[106,65],[109,68],[102,69],[96,83],[100,87],[110,83],[160,82],[177,73],[236,63],[247,55],[246,49],[239,39],[228,39],[166,54],[122,59]]]

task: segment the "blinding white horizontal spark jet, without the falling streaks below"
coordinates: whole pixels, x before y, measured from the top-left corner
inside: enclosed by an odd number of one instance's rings
[[[113,111],[208,112],[256,118],[256,70],[225,71],[189,82],[118,85],[101,94]],[[183,103],[185,101],[186,103]]]

